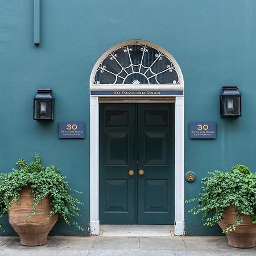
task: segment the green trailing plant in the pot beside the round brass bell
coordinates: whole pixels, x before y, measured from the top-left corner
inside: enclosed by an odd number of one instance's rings
[[[196,206],[188,210],[193,214],[203,212],[205,226],[213,226],[221,221],[225,208],[233,205],[236,210],[236,223],[223,232],[236,229],[243,221],[243,215],[251,215],[251,221],[256,223],[256,174],[249,168],[238,164],[229,172],[209,172],[210,177],[201,180],[203,192],[199,197],[186,200],[186,203],[196,201]]]

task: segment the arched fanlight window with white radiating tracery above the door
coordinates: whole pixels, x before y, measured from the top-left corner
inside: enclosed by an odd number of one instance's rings
[[[98,65],[94,85],[180,84],[177,69],[164,52],[146,44],[127,44]]]

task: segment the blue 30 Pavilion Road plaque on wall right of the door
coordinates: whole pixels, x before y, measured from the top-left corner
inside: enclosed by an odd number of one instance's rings
[[[216,122],[190,122],[189,139],[216,139]]]

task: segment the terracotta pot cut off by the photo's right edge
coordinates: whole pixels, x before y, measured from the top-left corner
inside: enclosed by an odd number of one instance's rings
[[[229,207],[224,210],[223,220],[218,224],[226,229],[236,223],[235,208]],[[256,224],[251,223],[250,215],[243,216],[243,222],[236,230],[226,233],[230,246],[238,248],[252,248],[256,243]]]

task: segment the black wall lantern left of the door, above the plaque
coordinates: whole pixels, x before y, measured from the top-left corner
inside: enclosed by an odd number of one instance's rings
[[[54,98],[51,89],[38,89],[34,97],[34,119],[54,119]]]

